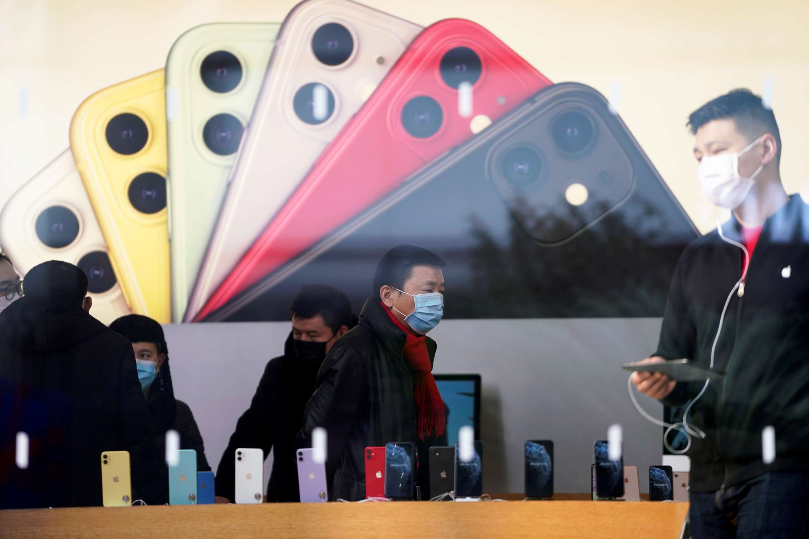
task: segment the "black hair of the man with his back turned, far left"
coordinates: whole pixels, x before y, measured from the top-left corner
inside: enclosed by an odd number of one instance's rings
[[[81,307],[87,296],[87,276],[78,267],[49,260],[31,268],[23,281],[25,295],[35,302]]]

